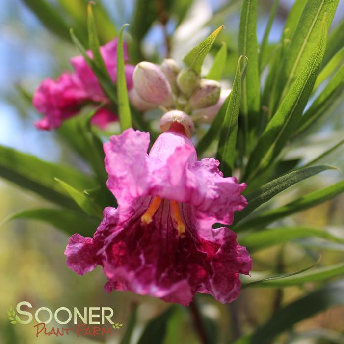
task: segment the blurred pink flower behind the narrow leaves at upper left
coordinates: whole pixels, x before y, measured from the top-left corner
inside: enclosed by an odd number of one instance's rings
[[[102,46],[100,51],[111,79],[116,82],[117,38]],[[90,51],[87,53],[92,57]],[[125,61],[128,60],[126,46],[124,47],[124,58]],[[75,70],[74,73],[64,72],[56,81],[51,78],[44,79],[36,90],[33,96],[33,106],[44,115],[43,119],[35,123],[38,129],[50,130],[58,128],[63,120],[76,115],[82,106],[108,102],[97,77],[87,65],[85,59],[82,56],[76,56],[71,58],[71,63]],[[125,66],[128,89],[132,88],[134,68],[135,66],[132,65]],[[101,123],[99,118],[102,119]],[[116,119],[117,115],[115,113],[101,108],[95,114],[93,122],[100,123],[100,127],[104,128],[108,122]]]

